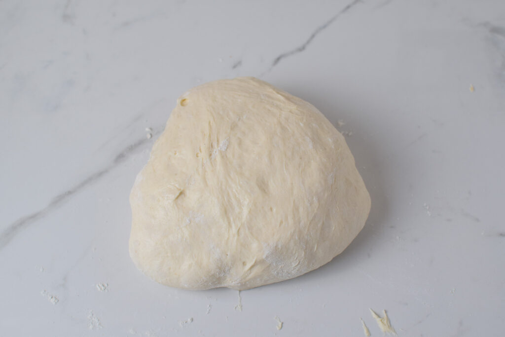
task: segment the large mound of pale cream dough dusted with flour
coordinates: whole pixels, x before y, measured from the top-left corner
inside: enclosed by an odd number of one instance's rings
[[[341,253],[370,211],[343,136],[311,104],[251,77],[178,99],[130,203],[135,265],[194,290],[305,274]]]

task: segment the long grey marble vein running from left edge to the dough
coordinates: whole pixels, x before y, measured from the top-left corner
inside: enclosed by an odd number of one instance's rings
[[[158,133],[159,132],[157,132],[156,134]],[[123,162],[124,159],[128,157],[128,155],[133,153],[137,148],[141,147],[142,145],[144,145],[144,143],[148,141],[149,139],[147,138],[137,140],[133,144],[127,146],[123,151],[121,151],[107,167],[90,174],[69,190],[54,197],[53,200],[41,210],[25,215],[19,218],[18,220],[14,221],[4,231],[2,231],[2,233],[0,233],[0,250],[6,247],[21,230],[26,228],[28,225],[36,222],[37,220],[43,218],[48,213],[51,213],[52,211],[57,209],[63,203],[68,201],[72,196],[76,195],[79,191],[81,191],[84,187],[91,185],[98,179],[102,178],[105,174],[109,173],[109,171],[115,168],[118,164]]]

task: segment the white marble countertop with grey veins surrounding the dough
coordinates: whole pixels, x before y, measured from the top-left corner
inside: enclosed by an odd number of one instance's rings
[[[239,312],[150,281],[127,240],[178,95],[244,75],[345,121],[372,211]],[[2,336],[380,336],[368,308],[399,336],[503,333],[503,0],[4,0],[0,113]]]

